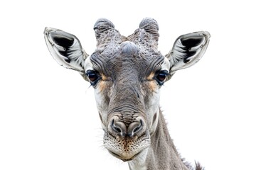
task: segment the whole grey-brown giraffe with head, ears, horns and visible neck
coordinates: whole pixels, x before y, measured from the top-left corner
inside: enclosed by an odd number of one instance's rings
[[[159,107],[161,86],[176,71],[203,57],[210,34],[199,31],[179,36],[167,55],[158,50],[159,25],[144,18],[139,28],[123,36],[106,18],[96,21],[96,50],[87,55],[75,35],[45,28],[50,54],[73,69],[95,90],[103,143],[131,170],[196,169],[177,152]]]

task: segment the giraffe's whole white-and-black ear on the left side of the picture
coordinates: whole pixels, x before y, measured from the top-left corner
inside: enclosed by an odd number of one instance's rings
[[[56,62],[65,68],[80,72],[85,78],[84,64],[88,55],[82,50],[78,38],[63,30],[48,27],[44,31],[44,37],[50,55]]]

